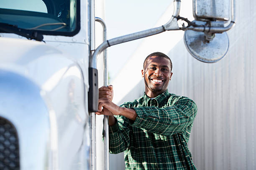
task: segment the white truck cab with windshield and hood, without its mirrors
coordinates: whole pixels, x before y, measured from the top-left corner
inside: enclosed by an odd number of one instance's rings
[[[90,169],[89,4],[0,2],[0,169]]]

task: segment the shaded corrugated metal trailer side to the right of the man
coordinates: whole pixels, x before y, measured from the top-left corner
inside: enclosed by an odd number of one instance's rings
[[[230,47],[216,63],[195,60],[183,40],[169,51],[174,65],[169,91],[198,106],[189,147],[199,170],[256,169],[255,16],[254,0],[236,1]]]

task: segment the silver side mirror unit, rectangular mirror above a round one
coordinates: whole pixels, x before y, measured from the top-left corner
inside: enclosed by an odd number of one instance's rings
[[[185,30],[184,42],[189,53],[197,60],[210,63],[225,56],[229,47],[225,31],[235,23],[234,6],[234,0],[231,0],[231,7],[230,0],[193,0],[195,20]],[[224,27],[228,21],[230,24]]]

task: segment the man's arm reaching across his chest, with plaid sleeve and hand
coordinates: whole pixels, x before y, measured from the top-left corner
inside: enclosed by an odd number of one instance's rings
[[[131,125],[144,128],[151,133],[160,135],[173,135],[185,130],[195,119],[197,106],[187,97],[181,97],[175,105],[165,108],[134,107],[123,108],[110,100],[99,100],[99,114],[101,107],[110,110],[112,115],[123,115],[134,120]]]

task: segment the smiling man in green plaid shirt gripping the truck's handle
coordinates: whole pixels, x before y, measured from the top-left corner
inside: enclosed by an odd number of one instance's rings
[[[172,62],[167,55],[148,55],[141,73],[144,95],[120,107],[112,102],[112,86],[99,89],[96,114],[109,115],[110,153],[124,151],[125,170],[196,170],[187,142],[197,105],[168,92]]]

